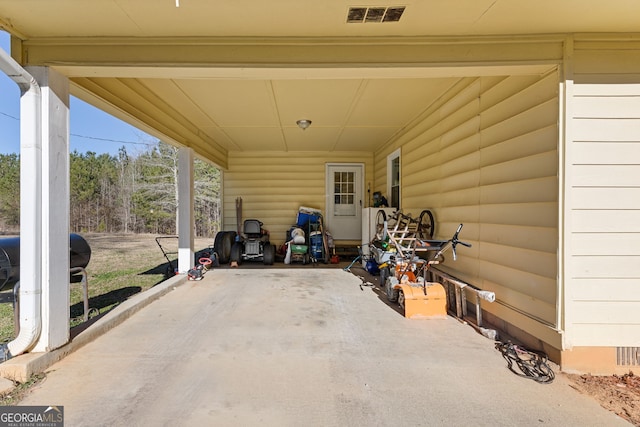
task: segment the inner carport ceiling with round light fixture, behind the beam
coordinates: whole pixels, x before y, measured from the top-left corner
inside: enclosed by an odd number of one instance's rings
[[[255,146],[308,150],[304,141],[313,136],[315,149],[360,151],[374,149],[406,127],[454,80],[144,79],[142,83],[171,105],[174,116],[179,112],[183,121],[200,127],[229,150]],[[312,120],[303,134],[296,125],[302,118]],[[317,140],[320,136],[323,139]]]

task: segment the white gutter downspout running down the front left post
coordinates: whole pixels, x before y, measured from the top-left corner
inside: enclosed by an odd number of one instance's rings
[[[32,348],[42,329],[41,92],[36,80],[0,49],[0,70],[20,88],[20,332],[0,346],[0,362]],[[25,179],[27,174],[29,179]],[[29,203],[24,202],[30,197]],[[29,268],[26,268],[29,260]]]

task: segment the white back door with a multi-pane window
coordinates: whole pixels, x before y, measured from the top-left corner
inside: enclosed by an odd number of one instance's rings
[[[364,165],[327,164],[325,222],[334,240],[362,238]]]

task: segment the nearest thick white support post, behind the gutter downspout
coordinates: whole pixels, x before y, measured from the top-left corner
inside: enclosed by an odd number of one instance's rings
[[[42,90],[42,330],[34,351],[69,341],[69,80],[30,67]]]

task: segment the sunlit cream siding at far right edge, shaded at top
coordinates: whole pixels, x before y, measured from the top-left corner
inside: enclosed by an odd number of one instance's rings
[[[640,42],[576,40],[567,100],[569,346],[640,345]]]

